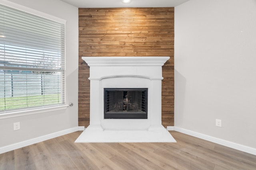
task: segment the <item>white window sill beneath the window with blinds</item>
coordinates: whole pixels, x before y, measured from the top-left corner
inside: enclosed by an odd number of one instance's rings
[[[66,109],[67,107],[68,107],[68,105],[62,105],[62,106],[53,106],[53,107],[40,108],[40,109],[31,109],[31,110],[13,111],[13,112],[9,112],[9,113],[1,113],[0,119],[8,119],[8,118],[12,118],[12,117],[34,115],[34,114],[38,114],[38,113],[63,110],[63,109]]]

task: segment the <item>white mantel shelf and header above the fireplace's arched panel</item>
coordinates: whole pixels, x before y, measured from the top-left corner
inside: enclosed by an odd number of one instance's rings
[[[89,80],[140,76],[162,80],[162,66],[170,57],[82,57],[90,66]]]

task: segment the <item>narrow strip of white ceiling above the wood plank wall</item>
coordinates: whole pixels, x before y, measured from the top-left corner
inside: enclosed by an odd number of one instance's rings
[[[78,8],[146,8],[174,7],[189,0],[131,0],[124,4],[122,0],[61,0]]]

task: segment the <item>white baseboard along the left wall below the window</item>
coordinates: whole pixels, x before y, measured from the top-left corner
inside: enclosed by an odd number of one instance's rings
[[[36,137],[36,138],[33,138],[33,139],[28,139],[26,141],[22,141],[22,142],[19,142],[19,143],[14,143],[14,144],[11,144],[11,145],[0,147],[0,154],[2,154],[4,152],[9,152],[11,150],[19,149],[19,148],[22,148],[22,147],[26,147],[26,146],[29,146],[29,145],[33,145],[33,144],[38,143],[38,142],[46,141],[48,139],[52,139],[52,138],[55,138],[55,137],[66,135],[68,133],[76,132],[76,131],[79,131],[79,128],[80,127],[73,127],[73,128],[70,128],[70,129],[63,130],[63,131],[54,132],[54,133],[51,133],[51,134],[48,134],[48,135],[44,135],[44,136]]]

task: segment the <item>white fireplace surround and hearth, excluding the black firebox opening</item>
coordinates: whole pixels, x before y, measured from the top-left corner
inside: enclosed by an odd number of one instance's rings
[[[162,66],[170,57],[82,57],[90,66],[90,125],[76,142],[176,142],[162,126]],[[104,119],[104,88],[148,88],[147,119]]]

